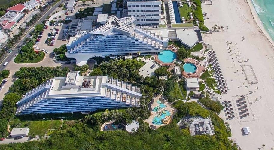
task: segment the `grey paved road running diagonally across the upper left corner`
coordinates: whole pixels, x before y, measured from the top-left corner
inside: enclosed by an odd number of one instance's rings
[[[55,10],[55,9],[59,6],[59,4],[62,4],[63,2],[65,2],[65,0],[61,0],[61,1],[59,1],[57,4],[55,4],[53,7],[50,7],[50,9],[49,9],[43,16],[41,16],[41,18],[38,20],[38,22],[37,22],[36,24],[42,23],[42,22],[46,19],[47,16],[50,16],[50,15],[52,14],[52,10]],[[35,25],[36,25],[36,24],[35,24]],[[9,65],[10,62],[13,61],[14,56],[18,53],[18,50],[19,50],[18,46],[20,46],[20,45],[23,44],[23,40],[29,35],[29,33],[30,33],[31,31],[32,31],[32,29],[29,30],[29,31],[26,33],[26,35],[21,39],[21,41],[18,42],[18,45],[16,45],[16,46],[14,47],[14,50],[13,50],[13,51],[4,59],[4,61],[0,64],[0,71],[5,70],[5,67],[6,67],[6,66],[3,65],[5,62],[8,62],[8,65]],[[7,65],[7,66],[8,66],[8,65]]]

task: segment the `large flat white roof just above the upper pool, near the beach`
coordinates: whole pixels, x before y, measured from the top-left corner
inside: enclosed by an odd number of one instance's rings
[[[176,29],[177,38],[189,47],[198,42],[197,33],[193,29]]]

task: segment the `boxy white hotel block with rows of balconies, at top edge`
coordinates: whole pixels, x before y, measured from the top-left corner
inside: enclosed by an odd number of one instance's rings
[[[158,25],[161,22],[160,0],[127,0],[128,15],[134,16],[136,25]]]

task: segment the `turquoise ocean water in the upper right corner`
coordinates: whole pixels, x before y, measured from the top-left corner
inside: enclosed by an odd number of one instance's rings
[[[274,0],[251,0],[265,30],[274,41]]]

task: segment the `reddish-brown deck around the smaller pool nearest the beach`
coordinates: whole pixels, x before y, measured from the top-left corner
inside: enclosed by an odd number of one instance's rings
[[[199,78],[204,72],[205,72],[205,66],[201,64],[200,61],[193,59],[193,58],[186,58],[184,59],[185,63],[193,63],[197,67],[196,73],[187,73],[185,71],[182,71],[182,75],[185,78]]]

